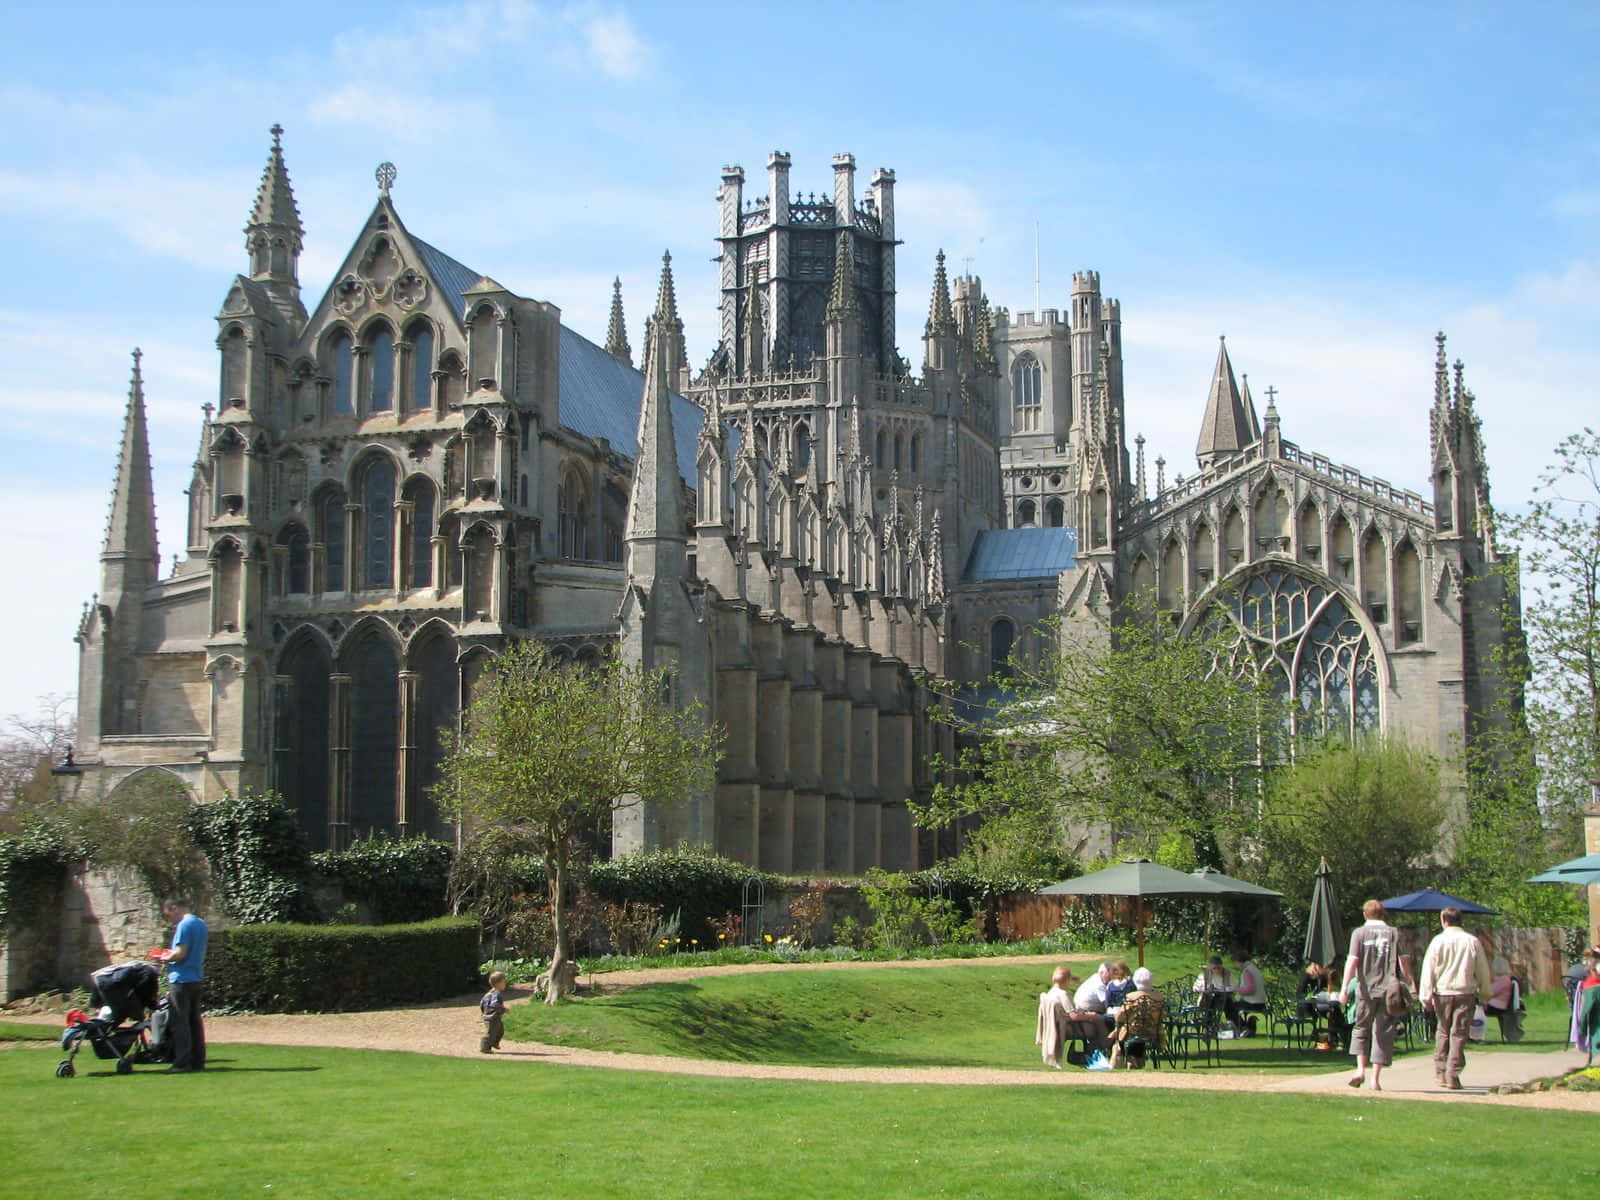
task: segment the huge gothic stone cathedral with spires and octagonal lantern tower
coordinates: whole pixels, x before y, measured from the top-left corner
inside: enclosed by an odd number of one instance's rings
[[[218,314],[186,546],[162,574],[139,355],[77,630],[78,763],[197,800],[275,789],[314,846],[443,835],[443,754],[485,662],[662,669],[725,731],[710,794],[618,816],[795,874],[926,866],[954,749],[947,683],[1099,627],[1149,594],[1226,621],[1310,731],[1392,730],[1459,765],[1490,712],[1499,574],[1472,394],[1440,338],[1430,498],[1288,442],[1218,350],[1197,469],[1130,461],[1122,310],[994,307],[934,258],[920,371],[894,339],[894,173],[765,195],[722,173],[720,338],[691,368],[670,258],[638,370],[621,286],[605,344],[413,234],[378,197],[306,307],[274,128]],[[1203,373],[1202,376],[1203,378]],[[1198,389],[1197,389],[1198,390]],[[1421,405],[1418,450],[1422,459]]]

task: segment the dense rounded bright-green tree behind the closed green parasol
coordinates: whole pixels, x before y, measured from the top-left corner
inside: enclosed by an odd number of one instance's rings
[[[1384,738],[1302,744],[1266,792],[1259,875],[1304,909],[1317,859],[1326,858],[1336,894],[1354,912],[1363,899],[1424,883],[1443,819],[1430,754]]]

